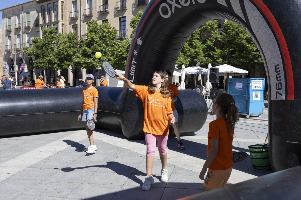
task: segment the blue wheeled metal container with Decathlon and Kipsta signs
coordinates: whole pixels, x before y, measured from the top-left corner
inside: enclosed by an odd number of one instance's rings
[[[247,115],[263,113],[265,79],[228,78],[228,94],[235,100],[238,113]]]

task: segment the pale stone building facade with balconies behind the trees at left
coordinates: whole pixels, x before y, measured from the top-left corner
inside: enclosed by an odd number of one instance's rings
[[[128,39],[132,32],[129,26],[131,19],[139,10],[145,10],[148,2],[149,0],[33,0],[1,9],[1,48],[4,51],[1,67],[8,64],[11,72],[18,73],[24,62],[23,71],[35,80],[40,74],[44,76],[46,83],[55,77],[64,76],[70,85],[74,85],[75,80],[85,77],[85,69],[72,70],[70,67],[62,71],[43,68],[30,70],[30,64],[35,58],[26,57],[24,46],[30,47],[29,42],[33,37],[42,37],[43,27],[51,26],[57,27],[60,33],[74,31],[78,37],[85,39],[87,23],[92,19],[99,24],[108,21],[114,26],[118,30],[116,40]],[[5,70],[1,72],[7,74]]]

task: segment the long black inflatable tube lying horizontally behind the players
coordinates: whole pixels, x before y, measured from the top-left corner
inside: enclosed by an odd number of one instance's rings
[[[129,139],[143,138],[143,106],[134,92],[115,87],[96,88],[99,93],[96,128],[122,131]],[[77,120],[82,90],[83,88],[0,91],[0,136],[84,129],[84,123]],[[131,93],[132,96],[125,95],[126,93]],[[200,130],[207,118],[205,100],[195,91],[179,93],[175,106],[179,111],[178,126],[181,133]],[[133,101],[125,103],[126,97],[132,97]],[[195,104],[191,104],[191,101]]]

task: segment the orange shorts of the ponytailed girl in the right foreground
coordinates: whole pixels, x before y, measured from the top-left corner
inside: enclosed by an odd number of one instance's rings
[[[225,187],[228,179],[230,178],[231,171],[232,167],[226,170],[208,169],[203,186],[211,190],[220,187]]]

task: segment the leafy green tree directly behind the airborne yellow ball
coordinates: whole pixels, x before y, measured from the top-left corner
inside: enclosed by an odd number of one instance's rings
[[[114,49],[116,49],[117,31],[108,22],[98,24],[96,20],[92,20],[87,24],[87,39],[80,38],[78,51],[74,58],[74,64],[82,68],[100,68],[102,62],[107,61],[113,63],[115,59]],[[95,52],[101,52],[100,58],[95,57]]]

